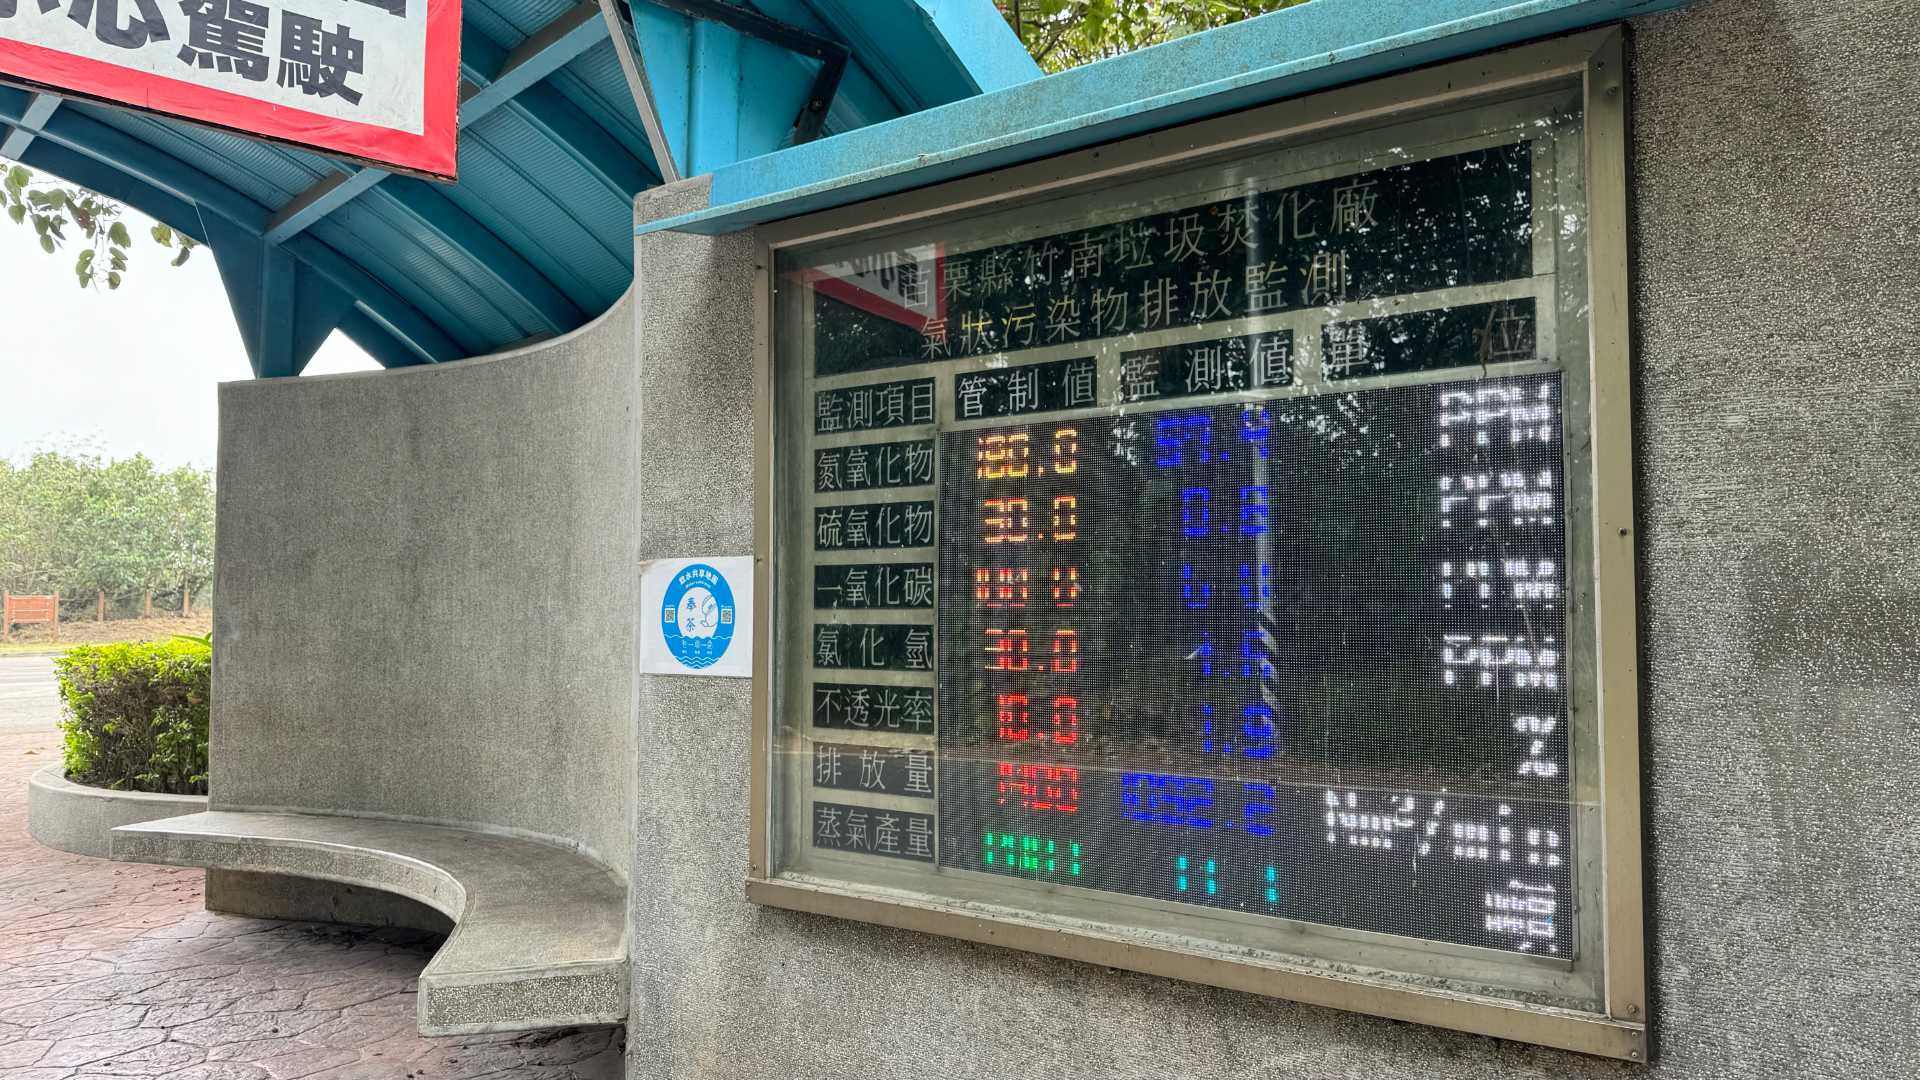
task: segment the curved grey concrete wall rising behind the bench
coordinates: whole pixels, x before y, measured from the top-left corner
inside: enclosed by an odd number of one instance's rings
[[[547,836],[618,871],[632,300],[445,367],[221,386],[213,809]]]

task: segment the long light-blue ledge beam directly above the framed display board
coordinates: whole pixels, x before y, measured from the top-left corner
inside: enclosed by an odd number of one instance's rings
[[[1313,0],[716,169],[708,209],[636,233],[730,233],[1686,2]]]

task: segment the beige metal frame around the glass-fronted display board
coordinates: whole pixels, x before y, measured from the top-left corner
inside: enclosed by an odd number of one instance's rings
[[[1327,90],[1300,100],[1137,136],[1112,146],[1064,154],[987,175],[814,213],[756,231],[755,275],[755,586],[764,603],[755,611],[753,784],[747,897],[755,903],[833,915],[885,926],[924,930],[1035,951],[1064,959],[1131,969],[1188,982],[1221,986],[1390,1017],[1463,1032],[1542,1043],[1580,1053],[1647,1061],[1645,922],[1640,824],[1640,705],[1634,563],[1634,477],[1628,336],[1626,225],[1626,69],[1624,31],[1611,27],[1496,52],[1430,69]],[[1592,723],[1597,773],[1599,838],[1582,857],[1582,872],[1597,872],[1601,911],[1582,911],[1597,922],[1601,1009],[1536,1005],[1524,999],[1469,994],[1440,980],[1396,980],[1354,967],[1284,963],[1273,957],[1229,955],[1165,934],[1119,934],[1060,919],[941,903],[937,897],[887,890],[833,888],[816,880],[783,878],[774,865],[776,799],[776,657],[781,621],[776,552],[781,527],[776,498],[776,411],[780,373],[774,363],[776,254],[824,240],[924,225],[966,213],[1014,208],[1064,192],[1152,177],[1213,160],[1286,150],[1290,144],[1407,123],[1548,90],[1576,92],[1584,125],[1586,284],[1588,284],[1588,411],[1567,417],[1584,429],[1590,477],[1588,534],[1571,536],[1571,550],[1592,559],[1592,596],[1578,611],[1590,615],[1584,634],[1594,646]],[[1590,869],[1592,867],[1592,869]],[[1356,947],[1365,963],[1365,949]]]

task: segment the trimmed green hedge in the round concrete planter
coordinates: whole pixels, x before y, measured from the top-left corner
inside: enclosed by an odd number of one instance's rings
[[[204,640],[79,646],[54,661],[67,778],[117,792],[207,794]]]

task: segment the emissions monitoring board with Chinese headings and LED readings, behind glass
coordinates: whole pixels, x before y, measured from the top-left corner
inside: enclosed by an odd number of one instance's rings
[[[781,250],[755,896],[1615,1022],[1580,102]]]

